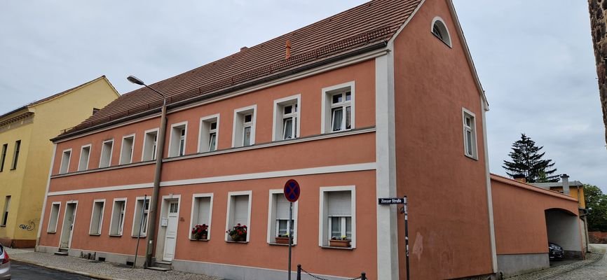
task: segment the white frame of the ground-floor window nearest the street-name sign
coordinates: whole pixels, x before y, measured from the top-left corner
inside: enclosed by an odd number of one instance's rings
[[[350,240],[350,248],[356,248],[356,186],[335,186],[335,187],[321,187],[320,188],[320,205],[319,205],[319,216],[318,216],[318,246],[328,247],[329,246],[329,216],[328,208],[325,204],[325,193],[339,192],[339,191],[350,191],[351,200],[351,220],[352,220],[352,239]],[[332,248],[332,247],[331,247]]]

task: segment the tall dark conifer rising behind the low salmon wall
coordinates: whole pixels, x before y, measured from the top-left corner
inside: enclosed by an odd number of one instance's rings
[[[504,160],[502,167],[506,169],[506,174],[511,177],[522,174],[528,183],[559,181],[559,174],[554,174],[557,169],[552,168],[554,162],[543,160],[545,153],[540,153],[542,148],[544,146],[536,146],[535,141],[521,134],[521,139],[512,144],[512,152],[508,154],[512,162]]]

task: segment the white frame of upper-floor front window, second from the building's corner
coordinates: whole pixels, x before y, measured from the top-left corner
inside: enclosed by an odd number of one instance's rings
[[[284,110],[285,106],[294,105],[296,109],[295,113],[290,113],[289,116],[285,117]],[[285,118],[296,118],[296,122],[293,123],[295,133],[291,139],[299,138],[301,128],[301,94],[295,94],[289,97],[274,100],[274,118],[272,122],[272,139],[273,141],[287,140],[284,139],[284,120]]]

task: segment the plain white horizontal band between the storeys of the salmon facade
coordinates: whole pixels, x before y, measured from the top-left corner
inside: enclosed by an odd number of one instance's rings
[[[229,181],[268,179],[268,178],[278,178],[278,177],[286,177],[286,176],[303,176],[303,175],[329,174],[329,173],[341,173],[341,172],[358,172],[358,171],[367,171],[367,170],[375,170],[375,169],[376,169],[375,162],[366,162],[366,163],[357,163],[357,164],[353,164],[353,165],[333,165],[333,166],[327,166],[327,167],[311,167],[311,168],[303,168],[303,169],[273,171],[273,172],[236,174],[236,175],[215,176],[215,177],[177,180],[177,181],[165,181],[165,182],[161,182],[161,187],[183,186],[183,185],[191,185],[191,184],[198,184],[198,183],[219,183],[219,182],[229,182]],[[75,194],[79,194],[79,193],[100,193],[100,192],[109,192],[109,191],[114,191],[114,190],[135,190],[135,189],[139,189],[139,188],[151,188],[151,187],[152,187],[152,183],[150,182],[150,183],[141,183],[141,184],[124,185],[124,186],[85,188],[85,189],[80,189],[80,190],[62,190],[62,191],[58,191],[58,192],[49,192],[48,196],[75,195]]]

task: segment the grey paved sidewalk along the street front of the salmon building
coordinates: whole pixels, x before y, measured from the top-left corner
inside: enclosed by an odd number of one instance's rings
[[[5,248],[11,260],[27,262],[32,265],[39,265],[50,269],[56,269],[63,272],[88,276],[94,279],[103,280],[219,280],[217,277],[177,272],[174,270],[168,272],[159,272],[156,270],[135,268],[132,269],[126,265],[119,265],[112,262],[99,262],[95,260],[86,260],[83,258],[74,258],[67,256],[54,255],[51,253],[34,252],[34,249],[15,249]]]

